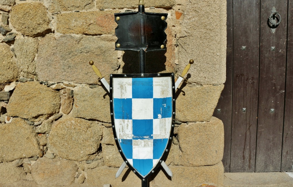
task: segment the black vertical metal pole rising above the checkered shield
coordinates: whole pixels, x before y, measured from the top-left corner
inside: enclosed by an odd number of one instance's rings
[[[146,35],[144,5],[139,5],[138,11],[141,14],[141,17],[139,18],[140,44],[142,46],[145,46],[147,43],[147,35]],[[139,73],[145,73],[145,71],[146,71],[145,66],[146,66],[146,52],[143,49],[141,49],[139,51]]]

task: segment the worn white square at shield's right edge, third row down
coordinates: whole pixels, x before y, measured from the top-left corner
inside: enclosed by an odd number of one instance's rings
[[[153,138],[169,138],[172,126],[172,118],[153,119]]]

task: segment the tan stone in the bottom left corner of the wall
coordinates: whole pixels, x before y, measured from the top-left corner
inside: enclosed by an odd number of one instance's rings
[[[16,167],[13,162],[3,162],[0,163],[0,179],[0,186],[2,186],[1,183],[7,185],[25,179],[25,172],[21,167]]]

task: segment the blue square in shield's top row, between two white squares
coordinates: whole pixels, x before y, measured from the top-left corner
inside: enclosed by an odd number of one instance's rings
[[[153,98],[153,78],[132,78],[132,98]]]

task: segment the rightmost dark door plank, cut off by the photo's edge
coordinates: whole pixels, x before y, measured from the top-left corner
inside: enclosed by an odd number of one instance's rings
[[[293,171],[293,1],[289,1],[288,6],[287,78],[281,171]]]

